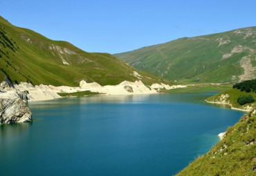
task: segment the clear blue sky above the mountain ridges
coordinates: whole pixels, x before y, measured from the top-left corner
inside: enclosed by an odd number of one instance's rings
[[[15,26],[111,54],[256,26],[255,0],[0,0],[0,7]]]

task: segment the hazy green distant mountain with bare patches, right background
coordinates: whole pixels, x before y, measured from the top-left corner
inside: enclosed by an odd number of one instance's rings
[[[236,82],[256,78],[256,27],[185,37],[116,54],[170,80]]]

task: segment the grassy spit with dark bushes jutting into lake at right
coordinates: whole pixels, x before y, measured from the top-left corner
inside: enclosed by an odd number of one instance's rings
[[[246,106],[251,106],[251,107],[256,107],[256,103],[250,103],[250,104],[244,104],[244,105],[239,105],[237,102],[237,99],[239,97],[244,97],[244,96],[248,96],[248,95],[252,95],[254,99],[256,99],[256,93],[255,92],[246,92],[246,91],[241,91],[239,89],[236,88],[231,88],[229,90],[223,91],[218,93],[217,95],[214,95],[212,97],[209,97],[207,99],[207,101],[219,101],[221,98],[221,95],[226,95],[228,94],[229,97],[226,99],[227,101],[229,101],[229,103],[232,105],[232,107],[234,108],[244,108]]]

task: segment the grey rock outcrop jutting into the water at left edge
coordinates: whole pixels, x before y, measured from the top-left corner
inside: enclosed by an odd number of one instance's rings
[[[32,121],[32,114],[22,99],[0,99],[0,124]]]

